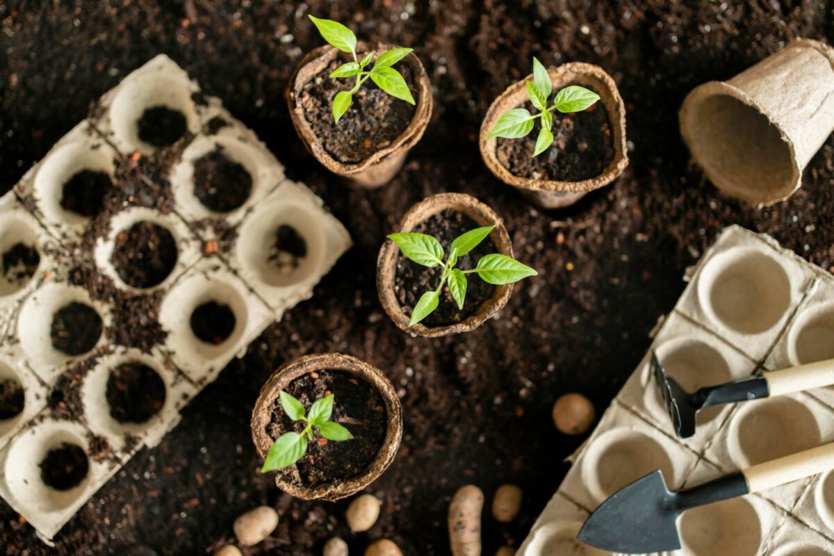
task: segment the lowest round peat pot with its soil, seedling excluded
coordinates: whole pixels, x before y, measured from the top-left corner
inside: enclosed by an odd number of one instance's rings
[[[323,438],[314,433],[307,453],[279,470],[275,483],[284,492],[304,500],[338,500],[373,483],[394,461],[403,435],[403,409],[378,368],[341,353],[307,355],[282,365],[264,383],[252,411],[252,439],[261,458],[293,427],[281,408],[282,390],[308,410],[325,392],[333,393],[331,420],[354,435],[344,442],[321,443]]]

